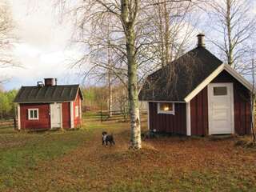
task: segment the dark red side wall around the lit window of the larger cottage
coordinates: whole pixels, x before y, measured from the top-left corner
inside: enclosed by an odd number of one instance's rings
[[[175,114],[158,114],[158,103],[150,102],[150,130],[186,134],[186,104],[175,103]]]

